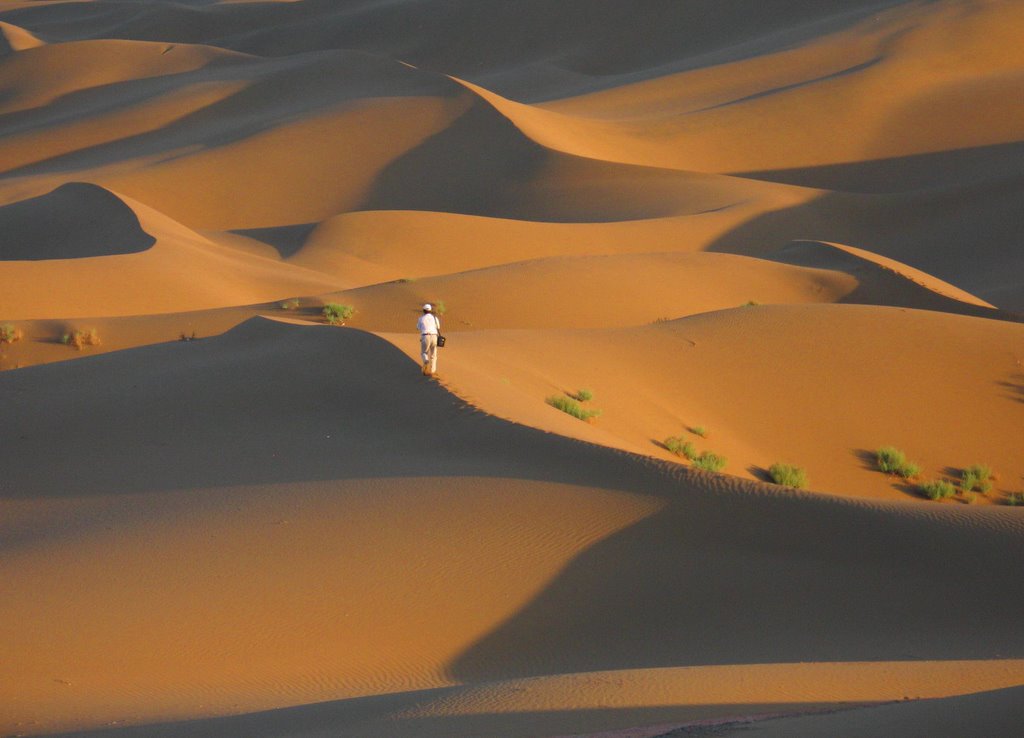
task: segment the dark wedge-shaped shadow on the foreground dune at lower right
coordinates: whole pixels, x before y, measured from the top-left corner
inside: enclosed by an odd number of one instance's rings
[[[477,682],[675,665],[1024,655],[1017,626],[1024,589],[1010,584],[1019,526],[998,533],[994,522],[965,525],[963,506],[733,496],[712,491],[712,477],[705,489],[681,490],[656,515],[579,555],[457,658],[452,675]],[[936,566],[950,551],[962,554],[956,566]],[[999,574],[993,562],[1002,562]]]

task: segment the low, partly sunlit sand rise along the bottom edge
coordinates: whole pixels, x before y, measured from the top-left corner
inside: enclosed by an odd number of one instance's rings
[[[752,723],[770,735],[803,735],[788,731],[821,731],[826,726],[834,726],[834,730],[842,726],[844,731],[850,731],[861,722],[865,728],[878,730],[874,711],[908,713],[898,720],[916,726],[936,720],[933,714],[948,720],[944,713],[949,708],[970,710],[968,725],[984,725],[987,721],[1009,724],[1017,711],[1015,695],[1024,689],[1020,686],[1022,679],[1024,661],[1020,660],[623,669],[453,685],[262,713],[89,731],[87,735],[133,738],[188,731],[194,736],[214,736],[245,731],[256,738],[305,735],[313,729],[325,733],[343,731],[353,738],[656,738],[681,728],[707,726],[721,726],[718,732],[729,735],[732,724],[741,727]],[[966,695],[959,691],[964,681],[969,681],[972,689]],[[987,715],[971,710],[975,702],[988,710]],[[878,703],[883,704],[879,707]],[[949,707],[943,709],[946,704]],[[826,714],[815,714],[822,712]],[[966,722],[963,714],[958,719]],[[598,726],[600,732],[592,733]],[[82,734],[62,735],[70,738]]]

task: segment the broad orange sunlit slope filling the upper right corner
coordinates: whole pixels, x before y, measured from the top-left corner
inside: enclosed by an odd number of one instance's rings
[[[891,159],[1020,139],[1021,24],[1016,3],[904,4],[809,44],[542,108],[480,92],[538,141],[608,161],[751,172]]]

